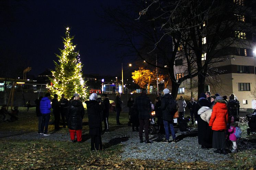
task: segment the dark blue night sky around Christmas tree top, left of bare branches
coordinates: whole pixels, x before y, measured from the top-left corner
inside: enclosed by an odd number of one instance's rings
[[[3,3],[3,2],[1,2]],[[0,8],[2,57],[19,60],[29,74],[54,69],[55,53],[63,49],[66,27],[74,35],[84,74],[121,75],[122,53],[111,41],[120,36],[105,22],[103,8],[121,5],[116,0],[7,0]],[[111,40],[110,40],[111,39]],[[105,41],[103,41],[105,40]],[[125,61],[128,62],[128,61]]]

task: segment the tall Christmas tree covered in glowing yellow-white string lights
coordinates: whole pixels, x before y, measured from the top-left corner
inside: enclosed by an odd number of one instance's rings
[[[67,99],[71,99],[74,93],[78,93],[84,101],[88,98],[87,88],[82,78],[82,64],[80,61],[79,51],[75,51],[75,45],[70,36],[70,28],[66,28],[66,37],[63,38],[64,49],[60,50],[59,64],[54,61],[55,71],[52,70],[53,78],[49,78],[51,85],[47,86],[51,94],[65,94]]]

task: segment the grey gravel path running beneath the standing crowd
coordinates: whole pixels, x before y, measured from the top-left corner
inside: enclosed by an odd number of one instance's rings
[[[190,132],[179,132],[176,130],[176,143],[161,143],[160,140],[164,135],[150,135],[152,144],[139,143],[139,132],[132,132],[131,127],[128,126],[114,126],[110,127],[110,132],[102,135],[102,142],[107,148],[112,145],[123,145],[123,153],[121,158],[134,159],[164,159],[175,162],[194,162],[205,161],[209,163],[217,163],[223,160],[229,160],[230,154],[222,155],[213,153],[214,149],[202,149],[197,141],[197,126],[195,125]],[[83,131],[84,142],[91,142],[89,132]],[[11,134],[11,135],[10,135]],[[144,137],[144,134],[143,134]],[[15,139],[15,140],[53,140],[53,141],[70,141],[69,132],[67,128],[60,131],[53,132],[50,136],[43,136],[37,132],[1,132],[0,139]],[[170,139],[171,140],[171,139]],[[255,143],[240,140],[238,146],[240,149],[256,149]],[[244,147],[244,148],[241,148]]]

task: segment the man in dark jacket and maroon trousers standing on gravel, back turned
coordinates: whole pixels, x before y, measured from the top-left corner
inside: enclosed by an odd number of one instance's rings
[[[140,143],[143,143],[143,126],[145,128],[145,139],[147,144],[151,144],[152,142],[149,140],[149,126],[151,119],[151,101],[147,96],[147,90],[143,89],[141,91],[141,95],[138,96],[134,102],[133,109],[135,112],[139,113],[139,138]]]

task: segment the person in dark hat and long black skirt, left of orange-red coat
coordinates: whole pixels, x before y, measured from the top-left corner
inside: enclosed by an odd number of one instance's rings
[[[211,103],[206,99],[206,94],[201,93],[198,103],[195,106],[195,113],[202,107],[211,107]],[[198,144],[202,148],[212,147],[212,130],[209,127],[208,122],[204,121],[200,115],[197,115],[197,127],[198,127]]]

